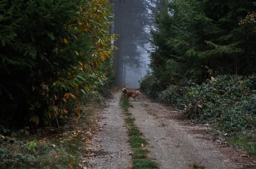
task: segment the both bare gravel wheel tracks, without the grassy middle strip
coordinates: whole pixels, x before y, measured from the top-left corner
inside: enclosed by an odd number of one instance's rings
[[[99,119],[102,131],[94,136],[91,149],[99,153],[89,159],[96,169],[131,169],[131,148],[124,125],[125,116],[119,107],[121,91],[115,93]],[[189,127],[174,120],[172,110],[151,102],[143,94],[133,101],[129,108],[135,124],[148,140],[148,157],[159,164],[160,169],[192,169],[193,164],[205,169],[239,169],[241,164],[233,163],[210,140],[201,134],[191,132]],[[97,146],[98,145],[98,146]],[[100,148],[99,148],[100,145]]]

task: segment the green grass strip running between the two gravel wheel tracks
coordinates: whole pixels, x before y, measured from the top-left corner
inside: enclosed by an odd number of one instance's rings
[[[157,163],[151,161],[147,158],[148,149],[144,149],[143,147],[147,144],[145,138],[141,138],[142,133],[138,129],[138,127],[134,124],[135,118],[131,118],[128,113],[128,107],[132,107],[131,103],[125,99],[122,95],[120,102],[120,106],[123,108],[125,115],[128,117],[125,118],[125,123],[128,125],[128,135],[130,136],[130,145],[133,149],[133,169],[157,169]]]

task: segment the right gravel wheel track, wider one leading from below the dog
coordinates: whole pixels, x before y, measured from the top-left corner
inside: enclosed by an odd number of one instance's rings
[[[200,139],[199,134],[189,133],[187,127],[171,118],[172,111],[150,102],[142,95],[131,101],[130,109],[135,124],[148,139],[149,157],[161,169],[191,169],[193,164],[206,169],[237,169],[230,158],[222,155],[209,141]]]

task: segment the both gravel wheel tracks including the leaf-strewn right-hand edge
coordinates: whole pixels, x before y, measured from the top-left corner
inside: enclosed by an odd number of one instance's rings
[[[113,93],[108,105],[99,113],[96,125],[101,128],[87,147],[95,151],[84,156],[84,168],[132,169],[134,148],[129,144],[125,115],[119,101],[121,90]],[[230,146],[223,136],[214,135],[211,125],[195,125],[177,119],[173,107],[155,103],[143,93],[129,102],[130,118],[142,132],[147,143],[142,144],[147,159],[160,169],[256,169],[256,160],[241,149]],[[140,167],[138,167],[140,168]]]

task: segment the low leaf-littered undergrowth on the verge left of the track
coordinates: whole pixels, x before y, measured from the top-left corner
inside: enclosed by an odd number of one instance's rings
[[[78,118],[60,121],[59,128],[43,127],[11,130],[0,126],[1,169],[70,169],[81,163],[85,132],[93,123],[97,107],[105,104],[99,93],[84,98],[82,113]],[[70,166],[71,165],[71,166]]]

